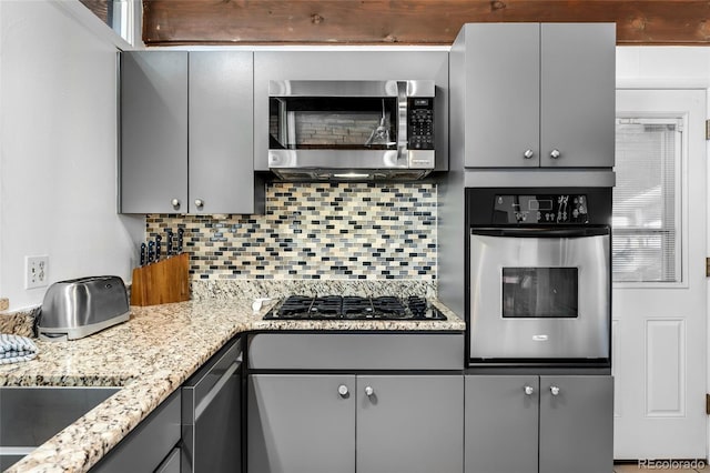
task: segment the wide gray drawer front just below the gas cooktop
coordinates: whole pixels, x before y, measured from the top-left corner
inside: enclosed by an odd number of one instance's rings
[[[253,370],[462,370],[460,333],[260,333]]]

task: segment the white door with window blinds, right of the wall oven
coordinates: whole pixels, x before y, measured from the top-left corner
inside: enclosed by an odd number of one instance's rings
[[[617,91],[615,459],[706,459],[706,91]]]

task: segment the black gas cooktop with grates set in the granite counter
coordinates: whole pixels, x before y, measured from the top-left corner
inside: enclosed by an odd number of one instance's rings
[[[355,295],[290,295],[265,320],[446,320],[424,298]]]

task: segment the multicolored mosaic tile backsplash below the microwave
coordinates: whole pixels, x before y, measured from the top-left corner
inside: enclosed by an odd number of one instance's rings
[[[270,183],[264,215],[146,218],[183,228],[193,280],[436,279],[436,184]]]

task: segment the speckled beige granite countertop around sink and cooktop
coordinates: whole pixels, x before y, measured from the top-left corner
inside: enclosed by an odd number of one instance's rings
[[[114,395],[7,472],[85,472],[235,334],[280,330],[463,332],[465,322],[438,301],[447,321],[262,320],[247,299],[197,300],[131,308],[131,319],[85,339],[37,341],[40,354],[0,365],[0,386],[120,386]]]

